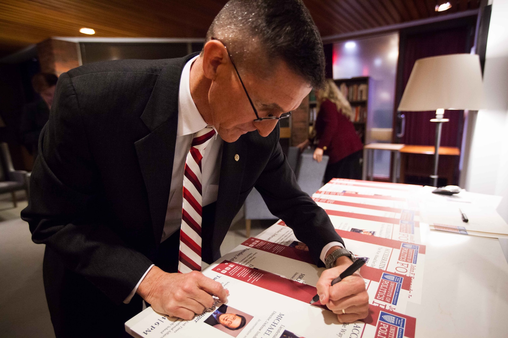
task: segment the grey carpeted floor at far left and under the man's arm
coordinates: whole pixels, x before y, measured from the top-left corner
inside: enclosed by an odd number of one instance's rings
[[[17,208],[10,194],[0,194],[0,337],[51,338],[53,327],[44,295],[42,259],[44,245],[31,241],[28,223],[19,213],[26,207],[24,192],[16,193]],[[221,252],[245,240],[245,220],[235,217]],[[250,236],[256,236],[273,220],[252,220]]]

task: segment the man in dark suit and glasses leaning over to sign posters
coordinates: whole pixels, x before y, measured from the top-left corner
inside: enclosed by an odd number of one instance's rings
[[[121,336],[142,299],[183,319],[211,307],[212,295],[226,301],[220,283],[176,273],[185,157],[207,126],[218,136],[203,154],[200,259],[220,257],[254,186],[316,264],[335,257],[343,242],[300,191],[278,143],[277,118],[323,80],[319,32],[300,0],[230,1],[199,56],[101,62],[61,74],[22,211],[33,241],[46,244],[56,335]],[[351,264],[347,255],[333,262],[317,287],[322,301],[343,322],[364,318],[363,279],[330,287]]]

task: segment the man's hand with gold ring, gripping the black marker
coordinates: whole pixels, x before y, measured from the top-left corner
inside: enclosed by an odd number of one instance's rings
[[[331,286],[332,280],[351,264],[349,257],[337,258],[335,267],[323,271],[316,284],[321,304],[337,314],[341,323],[363,319],[369,313],[369,295],[365,289],[365,281],[358,271]]]

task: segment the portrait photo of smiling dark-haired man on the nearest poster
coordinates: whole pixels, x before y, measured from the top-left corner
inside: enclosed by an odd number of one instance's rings
[[[236,337],[254,318],[253,316],[232,308],[226,304],[218,307],[208,318],[205,323],[224,331],[233,337]]]

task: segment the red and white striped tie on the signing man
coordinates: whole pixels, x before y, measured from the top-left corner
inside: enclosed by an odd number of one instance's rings
[[[183,176],[182,227],[180,229],[180,254],[178,272],[201,271],[201,220],[202,189],[201,160],[203,151],[215,130],[203,128],[196,133],[185,160]]]

